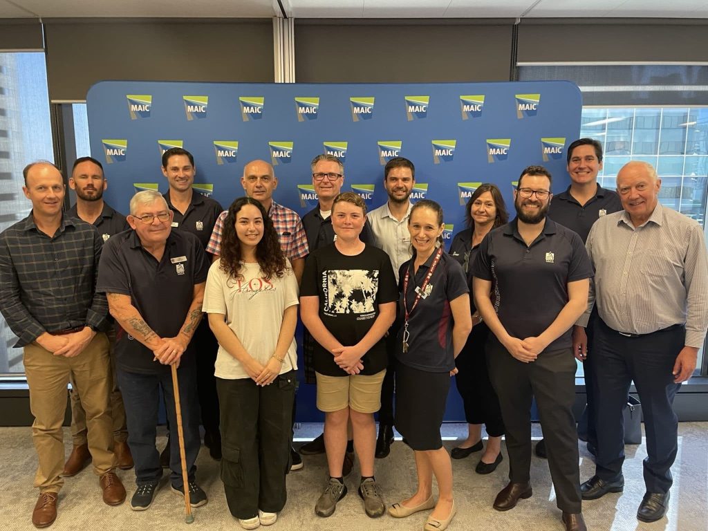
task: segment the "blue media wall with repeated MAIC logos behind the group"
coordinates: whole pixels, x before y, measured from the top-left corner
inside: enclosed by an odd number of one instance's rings
[[[368,208],[387,200],[383,166],[416,165],[413,201],[445,210],[445,239],[464,228],[480,183],[512,189],[530,164],[546,166],[558,193],[569,184],[567,145],[578,137],[581,93],[566,81],[455,84],[215,84],[102,81],[87,96],[91,154],[108,178],[105,199],[127,213],[137,190],[167,190],[165,149],[195,156],[195,189],[222,206],[244,194],[246,162],[272,162],[275,201],[304,215],[316,205],[309,163],[330,152],[344,161],[343,190]],[[301,367],[302,370],[302,367]],[[454,386],[453,386],[454,387]],[[318,421],[314,386],[298,392],[298,421]],[[455,389],[446,420],[464,420]]]

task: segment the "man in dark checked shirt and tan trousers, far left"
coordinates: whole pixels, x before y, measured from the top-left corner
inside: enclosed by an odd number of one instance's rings
[[[125,489],[115,475],[110,418],[108,338],[100,330],[108,307],[96,292],[103,239],[95,227],[62,214],[64,181],[57,167],[35,162],[23,171],[32,212],[0,234],[0,312],[24,347],[39,458],[32,513],[35,527],[57,518],[64,484],[62,423],[72,377],[86,410],[89,452],[103,501],[118,505]]]

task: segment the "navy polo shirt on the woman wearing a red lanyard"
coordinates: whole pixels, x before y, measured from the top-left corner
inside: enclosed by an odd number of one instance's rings
[[[403,285],[406,270],[410,270],[406,304],[409,312],[416,300],[416,287],[423,285],[430,266],[435,260],[435,252],[413,275],[413,258],[401,265],[399,270],[399,315],[405,319],[403,306]],[[449,372],[455,368],[455,353],[452,349],[452,310],[450,301],[469,293],[467,279],[462,265],[447,253],[442,253],[435,273],[428,282],[431,287],[428,297],[418,301],[418,306],[408,320],[408,352],[403,351],[404,325],[398,333],[396,358],[409,367],[427,372]],[[427,291],[427,290],[426,290]]]

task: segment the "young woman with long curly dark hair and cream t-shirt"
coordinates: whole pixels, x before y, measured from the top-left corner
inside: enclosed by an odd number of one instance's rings
[[[285,506],[295,399],[297,280],[260,202],[236,199],[203,311],[219,341],[215,363],[222,481],[244,529],[269,525]]]

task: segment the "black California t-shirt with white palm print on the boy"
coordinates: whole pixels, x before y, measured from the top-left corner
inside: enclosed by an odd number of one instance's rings
[[[330,244],[310,253],[300,285],[301,297],[319,297],[319,317],[344,346],[359,343],[379,315],[379,304],[398,300],[396,277],[389,256],[370,245],[356,256],[340,253]],[[362,358],[362,375],[387,367],[383,339]],[[314,368],[327,376],[347,376],[333,355],[315,343]]]

